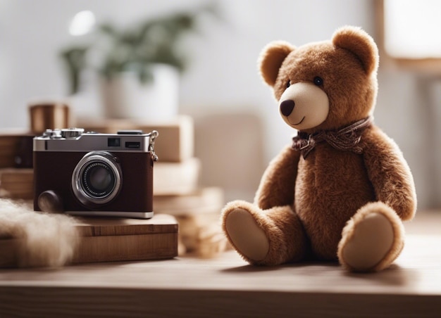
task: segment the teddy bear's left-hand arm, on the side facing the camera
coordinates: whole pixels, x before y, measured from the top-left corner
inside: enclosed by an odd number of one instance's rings
[[[254,203],[266,210],[275,206],[292,205],[297,165],[300,153],[291,146],[285,147],[263,173]]]

